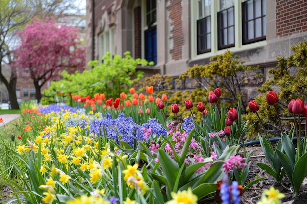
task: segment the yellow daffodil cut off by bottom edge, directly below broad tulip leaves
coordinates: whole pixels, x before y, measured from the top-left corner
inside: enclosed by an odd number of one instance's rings
[[[171,196],[173,199],[166,204],[197,204],[197,196],[192,193],[191,188],[187,191],[171,192]]]

